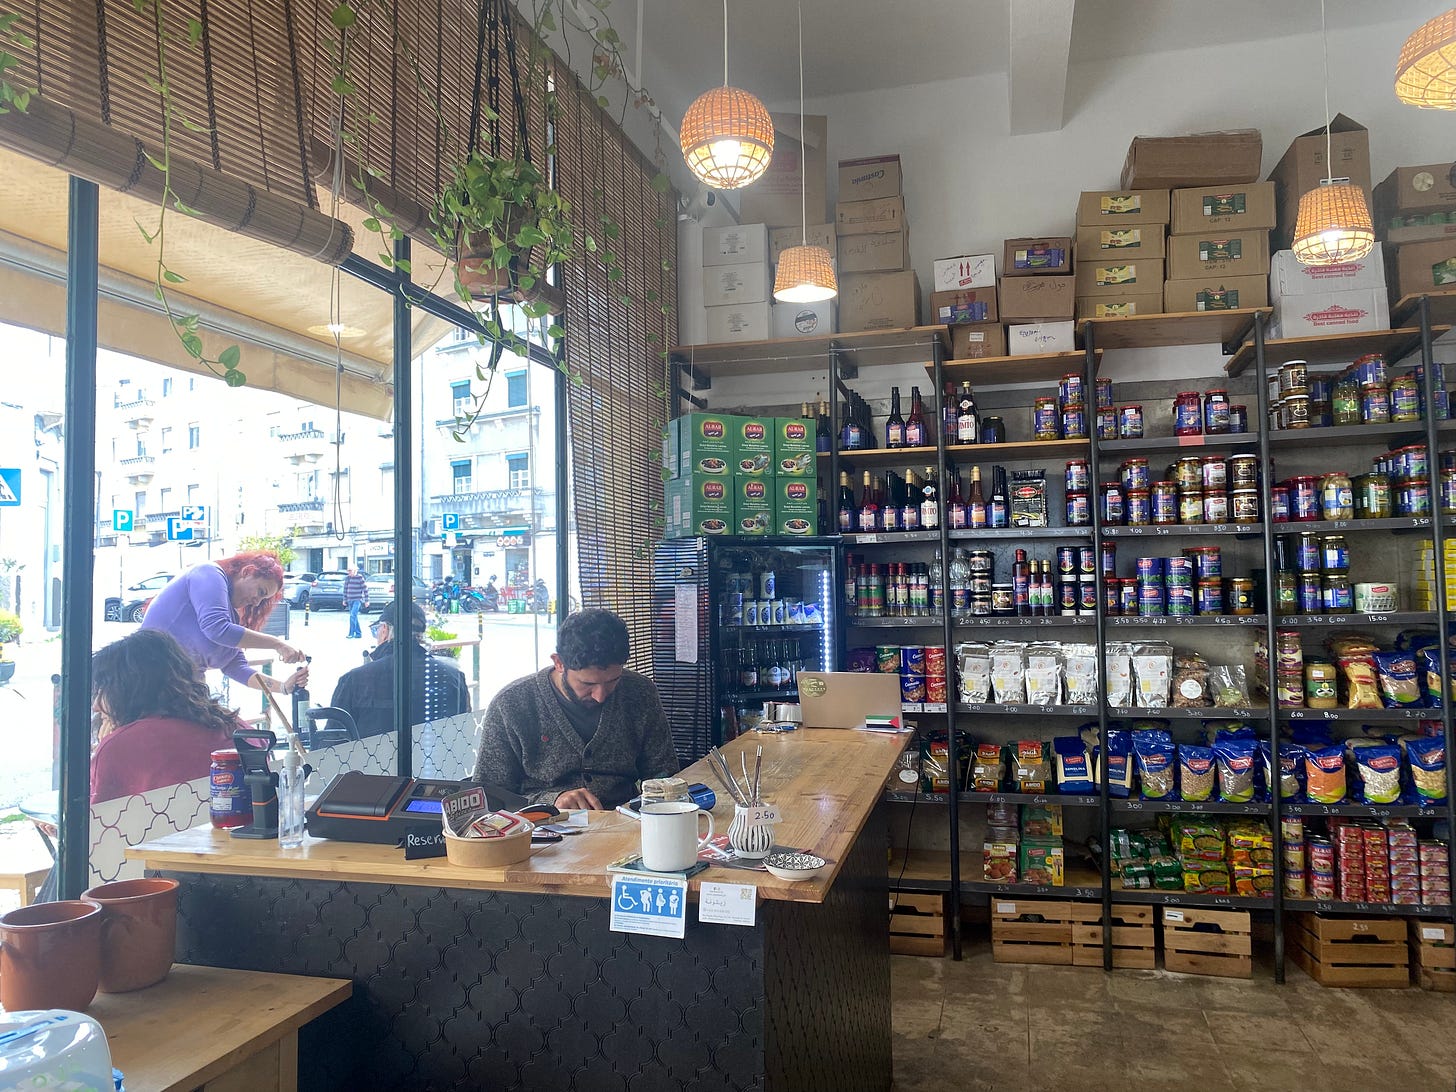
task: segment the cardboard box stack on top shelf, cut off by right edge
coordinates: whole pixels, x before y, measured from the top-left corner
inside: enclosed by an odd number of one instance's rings
[[[1374,188],[1376,233],[1386,243],[1390,301],[1456,288],[1453,165],[1398,167]]]

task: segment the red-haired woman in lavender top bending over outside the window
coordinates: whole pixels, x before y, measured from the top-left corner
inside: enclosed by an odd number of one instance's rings
[[[277,555],[252,550],[197,565],[167,584],[147,607],[143,629],[170,633],[197,665],[198,677],[210,667],[255,690],[290,693],[309,681],[307,665],[280,680],[253,671],[245,648],[266,648],[285,664],[307,657],[293,645],[264,633],[282,596],[282,566]]]

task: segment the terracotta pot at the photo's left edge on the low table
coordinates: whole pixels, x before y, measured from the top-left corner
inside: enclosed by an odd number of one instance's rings
[[[96,903],[38,903],[0,917],[0,1005],[82,1012],[100,978]]]

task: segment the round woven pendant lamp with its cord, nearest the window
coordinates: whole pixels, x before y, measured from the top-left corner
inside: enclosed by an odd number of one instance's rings
[[[773,159],[773,118],[759,98],[728,86],[728,0],[724,0],[724,86],[699,95],[678,130],[687,169],[713,189],[757,181]]]

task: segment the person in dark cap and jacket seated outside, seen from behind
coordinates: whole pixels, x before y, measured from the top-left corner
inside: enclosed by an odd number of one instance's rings
[[[381,735],[395,729],[395,649],[397,648],[399,616],[409,625],[408,639],[415,645],[411,657],[409,722],[425,724],[446,716],[470,712],[470,690],[464,671],[453,660],[425,651],[425,612],[418,603],[395,600],[380,612],[370,632],[379,645],[370,652],[370,662],[345,671],[333,689],[331,705],[354,718],[360,735]]]

